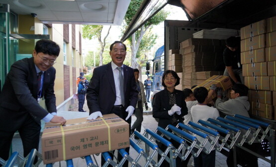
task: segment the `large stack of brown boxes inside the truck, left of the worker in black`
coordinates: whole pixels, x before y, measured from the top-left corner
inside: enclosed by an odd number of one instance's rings
[[[222,53],[225,40],[190,38],[180,43],[184,88],[202,83],[206,78],[197,78],[196,72],[213,71],[215,66],[223,60]],[[208,72],[207,72],[208,73]],[[206,73],[209,78],[213,73]],[[200,75],[200,74],[199,74]],[[205,74],[202,74],[205,75]]]

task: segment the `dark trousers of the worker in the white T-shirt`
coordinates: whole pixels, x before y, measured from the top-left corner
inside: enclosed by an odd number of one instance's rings
[[[194,167],[215,167],[216,164],[216,150],[205,154],[201,152],[198,157],[193,158]]]

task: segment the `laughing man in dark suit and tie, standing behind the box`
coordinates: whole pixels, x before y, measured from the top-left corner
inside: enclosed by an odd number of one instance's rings
[[[131,115],[136,107],[138,92],[133,69],[123,64],[126,56],[125,44],[115,41],[110,46],[109,55],[112,61],[93,71],[86,96],[90,113],[88,119],[115,113],[129,123],[130,129]],[[123,69],[118,69],[120,67]],[[126,151],[129,152],[129,147]],[[121,159],[119,154],[118,159]],[[102,158],[101,164],[104,162]],[[127,166],[126,162],[124,167]]]

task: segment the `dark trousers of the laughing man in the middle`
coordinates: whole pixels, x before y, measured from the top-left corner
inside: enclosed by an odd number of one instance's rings
[[[112,112],[111,113],[115,113],[116,115],[120,116],[122,119],[125,120],[126,118],[126,111],[125,111],[125,108],[124,107],[115,107],[112,109]],[[127,123],[129,123],[129,129],[130,129],[130,125],[131,125],[131,116],[126,120]],[[130,131],[129,131],[129,135],[130,135]],[[125,151],[129,154],[129,147],[125,148]],[[113,151],[113,154],[114,154],[115,151]],[[112,158],[113,160],[113,155],[110,154],[110,157]],[[120,153],[118,153],[118,161],[120,162],[122,160],[122,156],[120,155]],[[103,156],[101,156],[101,166],[103,166],[105,163],[105,160],[103,158]],[[117,162],[118,164],[118,162]],[[111,165],[108,165],[107,167],[112,167]],[[128,167],[128,161],[126,161],[124,164],[123,164],[123,167]]]

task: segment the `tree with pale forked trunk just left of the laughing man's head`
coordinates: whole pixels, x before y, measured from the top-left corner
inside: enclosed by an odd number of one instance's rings
[[[99,51],[99,65],[102,65],[102,53],[105,47],[105,40],[107,36],[109,35],[109,31],[111,26],[109,26],[107,34],[103,38],[103,41],[101,41],[101,31],[103,26],[102,25],[83,25],[83,38],[85,39],[97,39],[100,44],[100,51]]]

